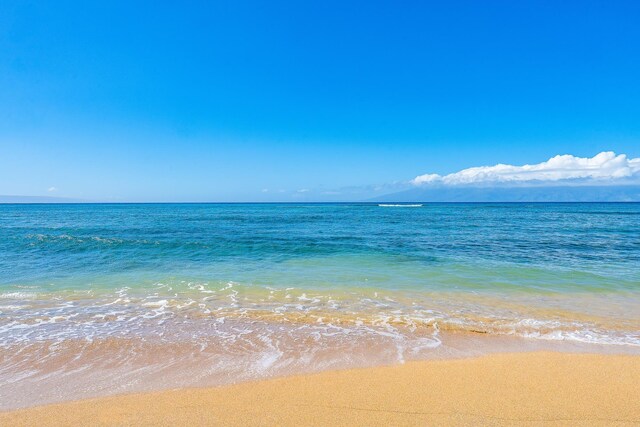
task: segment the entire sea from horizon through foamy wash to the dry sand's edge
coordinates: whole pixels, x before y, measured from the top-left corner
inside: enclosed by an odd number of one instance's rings
[[[640,204],[0,205],[9,406],[113,390],[105,366],[221,383],[478,332],[640,346]]]

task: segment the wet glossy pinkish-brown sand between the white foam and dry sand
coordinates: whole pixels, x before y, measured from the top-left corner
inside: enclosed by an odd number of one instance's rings
[[[231,387],[279,378],[308,376],[324,372],[375,369],[402,366],[404,363],[455,361],[497,354],[561,353],[627,355],[640,357],[640,348],[607,344],[532,339],[509,335],[473,332],[441,332],[440,344],[421,355],[410,349],[389,353],[383,348],[355,348],[353,353],[337,354],[333,349],[324,359],[296,363],[303,354],[291,353],[288,359],[273,360],[262,370],[251,370],[259,361],[226,360],[218,352],[196,352],[190,343],[176,342],[143,351],[137,340],[95,342],[90,349],[70,347],[58,359],[47,360],[37,375],[0,386],[0,413],[73,401],[113,396],[158,393],[175,389]],[[133,347],[132,347],[133,345]],[[137,346],[137,347],[136,347]],[[84,359],[78,359],[79,352]],[[136,351],[132,364],[118,361],[123,352]],[[400,351],[397,349],[396,351]],[[0,352],[0,358],[10,357]],[[293,357],[294,359],[291,359]],[[342,361],[340,361],[342,359]],[[350,359],[350,360],[349,360]],[[5,359],[8,360],[8,359]],[[290,363],[293,361],[294,363]],[[214,369],[211,369],[214,367]],[[27,366],[23,365],[22,369]],[[44,368],[44,369],[43,369]]]

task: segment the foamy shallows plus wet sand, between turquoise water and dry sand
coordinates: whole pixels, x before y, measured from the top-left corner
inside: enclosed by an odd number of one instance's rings
[[[189,281],[32,295],[0,294],[0,409],[464,356],[513,337],[640,351],[634,319],[516,310],[503,298]]]

